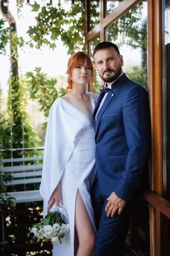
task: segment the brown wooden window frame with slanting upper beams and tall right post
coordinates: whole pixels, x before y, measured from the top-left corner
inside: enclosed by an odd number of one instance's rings
[[[89,2],[85,0],[85,2]],[[89,41],[100,34],[100,42],[105,41],[105,29],[115,20],[120,18],[131,7],[140,2],[139,0],[124,0],[105,17],[105,0],[100,0],[100,23],[92,30],[86,29],[85,43],[86,52],[89,53]],[[162,41],[161,41],[161,0],[147,0],[148,3],[148,94],[150,101],[151,117],[151,148],[149,156],[149,191],[144,192],[144,200],[148,202],[150,218],[150,255],[169,255],[167,247],[168,221],[170,219],[170,203],[162,198],[163,194],[163,148],[162,148]],[[88,13],[86,4],[85,13]],[[88,17],[86,17],[85,27],[89,27]],[[157,200],[159,197],[159,204]],[[166,213],[162,212],[166,205]],[[136,212],[137,213],[137,212]],[[144,255],[137,248],[137,240],[133,234],[137,229],[133,229],[137,224],[137,218],[133,218],[130,225],[130,241],[128,244],[131,255]],[[165,225],[166,224],[166,225]],[[164,228],[163,228],[164,227]],[[161,237],[166,234],[167,239]],[[134,240],[135,239],[135,240]],[[166,248],[166,251],[163,251]],[[162,254],[163,253],[163,254]]]

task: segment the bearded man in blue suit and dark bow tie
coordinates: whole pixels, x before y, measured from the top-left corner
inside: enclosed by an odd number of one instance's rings
[[[122,72],[117,45],[99,43],[93,52],[105,85],[93,113],[97,177],[92,201],[98,236],[95,256],[123,256],[133,195],[148,157],[148,93]]]

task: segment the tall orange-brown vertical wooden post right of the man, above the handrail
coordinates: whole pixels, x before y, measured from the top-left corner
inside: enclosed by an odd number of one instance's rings
[[[151,114],[150,190],[162,195],[161,0],[148,1],[148,93]]]

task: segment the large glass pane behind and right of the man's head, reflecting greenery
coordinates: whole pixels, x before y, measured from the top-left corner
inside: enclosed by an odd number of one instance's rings
[[[106,40],[118,45],[123,71],[133,81],[147,86],[147,2],[133,6],[106,30]]]

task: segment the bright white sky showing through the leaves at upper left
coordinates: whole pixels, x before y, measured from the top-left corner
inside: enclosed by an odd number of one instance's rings
[[[17,26],[17,36],[22,36],[24,39],[28,40],[29,37],[26,31],[29,26],[35,25],[36,12],[31,11],[31,7],[26,5],[26,0],[23,3],[21,18],[18,18],[17,7],[15,6],[16,0],[9,1],[9,11],[11,12],[13,18],[15,19]],[[30,0],[33,4],[33,0]],[[37,3],[42,2],[37,0]],[[44,1],[45,2],[45,1]],[[68,8],[68,6],[67,6]],[[2,14],[0,13],[0,18]],[[8,23],[6,24],[8,26]],[[18,49],[19,54],[19,69],[20,74],[24,75],[27,71],[33,71],[35,67],[41,67],[43,73],[48,74],[48,76],[60,76],[65,75],[65,70],[67,69],[68,56],[67,48],[63,46],[61,40],[58,40],[57,48],[49,49],[49,47],[42,48],[41,50],[31,49],[28,46],[24,46],[23,49]],[[3,90],[3,95],[7,95],[7,79],[9,78],[10,61],[9,61],[9,45],[7,45],[7,54],[5,56],[0,56],[0,83]]]

